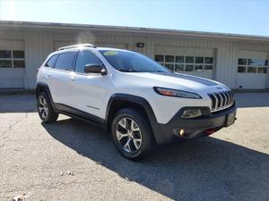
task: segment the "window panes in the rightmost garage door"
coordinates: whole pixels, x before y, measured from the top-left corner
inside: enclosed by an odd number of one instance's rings
[[[268,60],[239,58],[239,73],[267,73]]]

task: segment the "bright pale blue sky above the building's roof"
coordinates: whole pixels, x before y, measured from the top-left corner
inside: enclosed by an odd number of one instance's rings
[[[0,20],[119,25],[269,36],[269,1],[0,0]]]

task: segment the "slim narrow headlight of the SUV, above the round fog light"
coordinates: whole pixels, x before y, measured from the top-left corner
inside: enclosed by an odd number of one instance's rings
[[[201,96],[192,92],[176,90],[171,88],[159,88],[159,87],[154,87],[153,89],[157,94],[160,94],[162,96],[176,96],[176,97],[202,99]]]

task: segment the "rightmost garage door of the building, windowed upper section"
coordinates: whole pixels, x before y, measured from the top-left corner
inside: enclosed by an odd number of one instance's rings
[[[268,53],[238,52],[238,88],[266,88],[268,81]]]

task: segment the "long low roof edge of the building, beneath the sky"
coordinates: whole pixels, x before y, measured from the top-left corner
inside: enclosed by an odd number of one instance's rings
[[[269,37],[244,35],[244,34],[230,34],[217,33],[206,31],[193,31],[181,29],[153,29],[153,28],[138,28],[138,27],[124,27],[124,26],[108,26],[108,25],[91,25],[91,24],[74,24],[74,23],[55,23],[55,22],[36,22],[36,21],[0,21],[0,27],[9,28],[40,28],[40,29],[83,29],[83,30],[106,30],[118,31],[128,33],[152,33],[160,35],[173,36],[193,36],[204,38],[227,38],[240,40],[254,40],[269,42]]]

